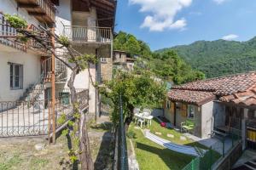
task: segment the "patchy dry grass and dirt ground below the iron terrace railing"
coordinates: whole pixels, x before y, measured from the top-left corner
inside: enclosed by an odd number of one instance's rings
[[[108,169],[113,147],[108,128],[90,128],[90,149],[95,169]],[[39,146],[39,150],[36,149]],[[61,136],[56,144],[42,138],[0,139],[0,170],[63,170],[72,168],[68,161],[67,138]]]

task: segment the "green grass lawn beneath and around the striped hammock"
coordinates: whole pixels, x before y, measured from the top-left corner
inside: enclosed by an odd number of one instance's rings
[[[176,144],[186,144],[201,147],[207,149],[207,147],[198,144],[190,139],[180,140],[182,133],[178,133],[175,130],[168,129],[166,127],[160,127],[159,122],[155,120],[152,121],[152,126],[149,127],[151,133],[160,132],[159,135],[163,139],[168,139]],[[172,150],[168,150],[159,144],[155,144],[149,139],[146,139],[143,135],[141,129],[135,128],[134,123],[129,127],[129,132],[133,131],[136,133],[136,138],[132,139],[132,142],[135,147],[135,152],[137,156],[137,161],[139,163],[140,169],[144,170],[166,170],[174,169],[180,170],[183,169],[190,161],[192,161],[194,156],[183,155]],[[173,134],[174,138],[167,137],[167,133]],[[128,138],[127,138],[128,139]],[[129,144],[129,141],[127,141]],[[128,145],[128,148],[131,146]],[[218,154],[214,153],[213,157],[217,158]]]

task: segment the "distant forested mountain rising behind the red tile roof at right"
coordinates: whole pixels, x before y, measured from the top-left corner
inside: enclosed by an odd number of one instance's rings
[[[202,71],[206,77],[256,70],[256,37],[247,42],[198,41],[189,45],[163,48],[156,53],[174,50],[193,69]]]

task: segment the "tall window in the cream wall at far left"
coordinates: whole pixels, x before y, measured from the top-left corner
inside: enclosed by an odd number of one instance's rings
[[[23,65],[15,63],[9,64],[10,68],[10,81],[9,86],[11,89],[22,89],[23,88]]]

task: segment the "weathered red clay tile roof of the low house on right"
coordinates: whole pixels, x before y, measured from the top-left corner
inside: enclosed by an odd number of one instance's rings
[[[195,105],[203,105],[215,96],[220,101],[256,105],[256,71],[189,82],[174,86],[168,93],[171,100]]]

